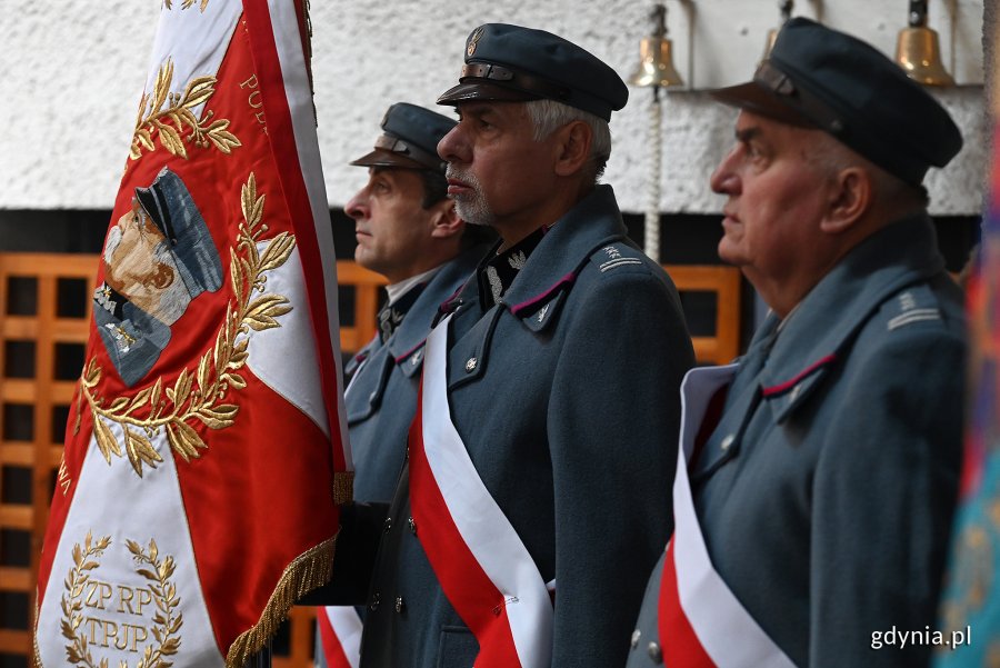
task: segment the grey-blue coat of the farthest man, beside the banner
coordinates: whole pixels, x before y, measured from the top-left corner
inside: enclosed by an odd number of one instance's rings
[[[354,499],[392,499],[417,410],[423,342],[438,307],[476,270],[486,246],[464,251],[434,273],[383,345],[376,337],[346,371],[354,371],[344,401],[354,459]]]

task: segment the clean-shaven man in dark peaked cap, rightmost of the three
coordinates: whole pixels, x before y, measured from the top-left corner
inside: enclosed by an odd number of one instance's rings
[[[921,181],[961,136],[892,61],[807,19],[713,94],[741,110],[711,178],[719,255],[771,312],[734,376],[686,378],[676,528],[628,666],[926,666],[966,342]]]

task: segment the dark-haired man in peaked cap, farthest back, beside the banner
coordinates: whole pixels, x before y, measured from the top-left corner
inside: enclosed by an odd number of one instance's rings
[[[354,221],[354,259],[389,281],[379,331],[344,369],[357,501],[392,499],[431,322],[488,249],[490,236],[467,227],[447,197],[437,146],[454,124],[422,107],[392,104],[373,150],[351,162],[368,168],[368,183],[344,207]],[[354,608],[328,607],[318,616],[317,664],[357,665]]]

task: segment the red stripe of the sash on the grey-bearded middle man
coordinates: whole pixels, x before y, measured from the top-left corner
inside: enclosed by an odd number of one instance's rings
[[[410,426],[410,509],[417,537],[444,596],[479,641],[476,668],[519,667],[504,597],[462,539],[427,461],[422,408],[421,385]]]

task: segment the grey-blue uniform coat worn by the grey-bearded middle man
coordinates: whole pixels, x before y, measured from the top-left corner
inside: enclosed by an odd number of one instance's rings
[[[476,281],[449,305],[451,418],[543,580],[557,581],[552,665],[620,666],[672,517],[663,490],[693,362],[677,291],[599,186],[548,231],[499,305],[484,310]],[[406,469],[361,664],[468,668],[478,646],[408,521],[408,481]]]

